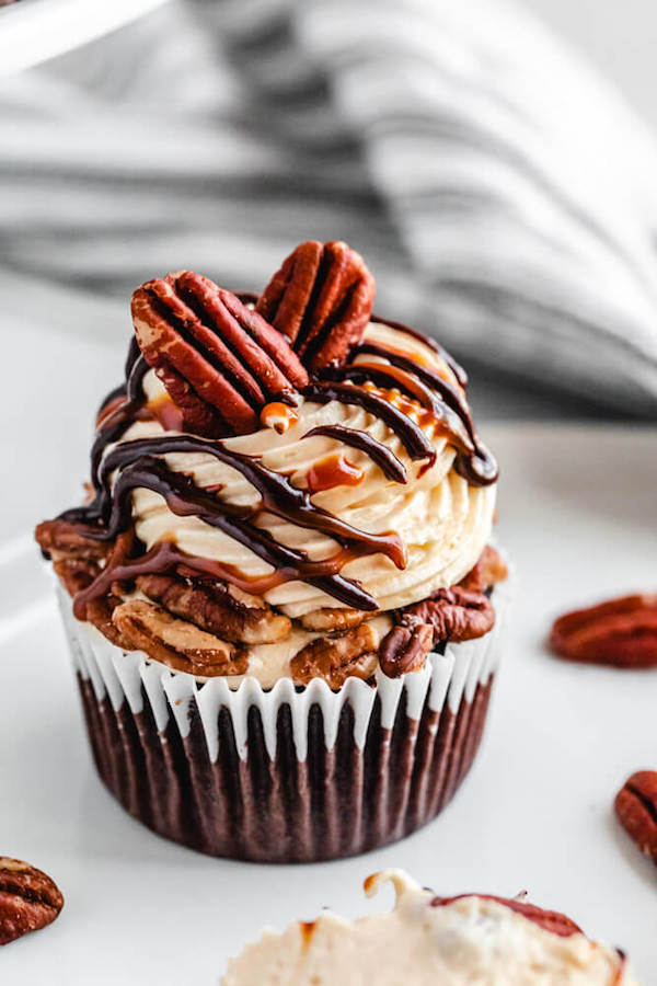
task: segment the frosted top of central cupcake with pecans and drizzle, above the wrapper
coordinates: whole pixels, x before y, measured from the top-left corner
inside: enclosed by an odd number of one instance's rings
[[[191,272],[135,291],[90,502],[37,528],[79,619],[265,687],[401,675],[492,628],[497,468],[465,374],[373,296],[316,242],[260,297]]]

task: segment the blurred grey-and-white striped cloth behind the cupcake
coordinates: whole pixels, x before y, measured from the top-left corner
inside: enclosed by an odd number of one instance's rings
[[[344,239],[388,317],[657,416],[655,144],[504,0],[170,2],[4,80],[0,169],[9,271],[257,288]]]

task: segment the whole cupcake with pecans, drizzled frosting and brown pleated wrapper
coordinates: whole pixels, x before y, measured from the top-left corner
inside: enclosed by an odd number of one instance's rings
[[[339,242],[302,243],[260,297],[139,287],[87,500],[36,529],[101,778],[203,852],[397,839],[481,740],[497,467],[464,371],[373,296]]]

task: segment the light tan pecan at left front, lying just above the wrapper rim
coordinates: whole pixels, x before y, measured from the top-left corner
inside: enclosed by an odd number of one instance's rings
[[[241,675],[246,670],[246,655],[233,644],[199,630],[170,612],[147,603],[131,599],[122,603],[112,614],[114,626],[124,640],[149,657],[191,675]]]

